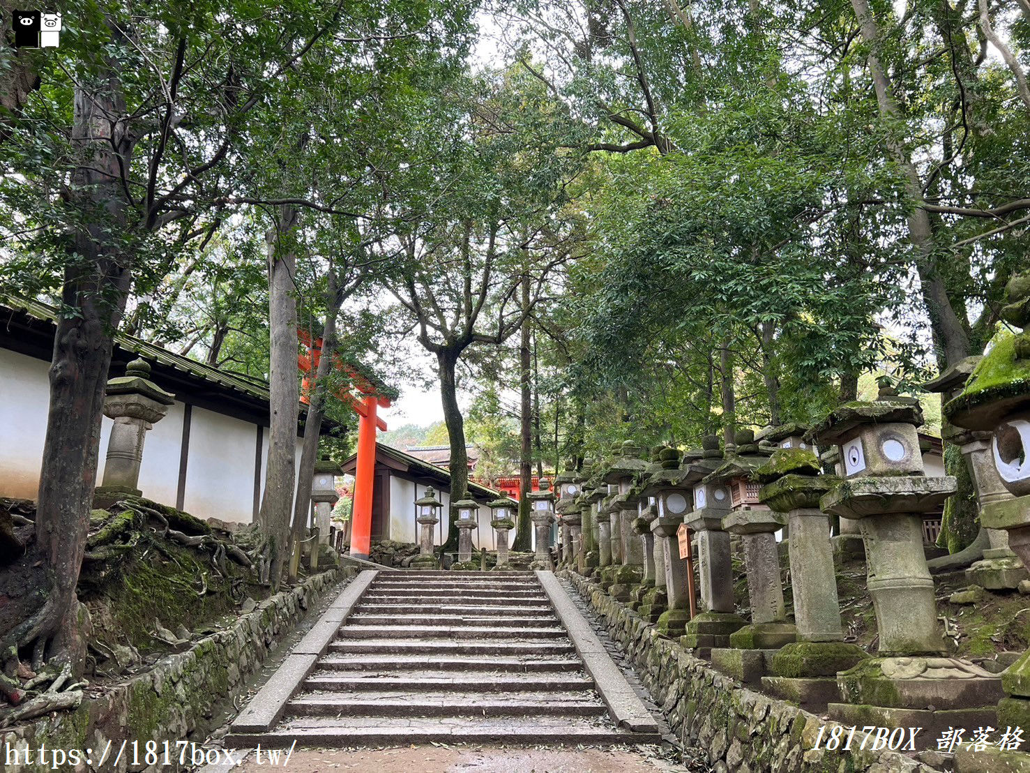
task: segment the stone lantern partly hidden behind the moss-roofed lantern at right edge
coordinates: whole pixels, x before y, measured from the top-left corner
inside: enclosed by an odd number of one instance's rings
[[[967,357],[923,385],[930,392],[940,393],[947,405],[962,393],[963,386],[981,359],[980,357]],[[969,470],[976,491],[976,502],[981,512],[987,505],[1014,498],[1011,492],[1005,488],[1004,481],[998,475],[998,469],[994,465],[991,432],[956,427],[954,424],[946,422],[941,427],[940,434],[945,442],[958,445],[962,456],[965,457],[966,468]],[[1023,562],[1008,546],[1008,532],[1004,529],[987,528],[983,524],[983,517],[981,526],[986,533],[988,546],[984,548],[983,557],[965,570],[966,579],[971,584],[977,584],[990,591],[1015,590],[1019,586],[1020,580],[1028,578],[1028,574]],[[942,557],[931,562],[930,571],[939,571],[935,565],[940,564],[943,564],[941,569],[952,568],[948,561],[949,558],[951,557]]]

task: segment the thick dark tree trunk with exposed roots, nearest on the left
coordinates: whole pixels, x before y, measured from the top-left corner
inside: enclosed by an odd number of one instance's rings
[[[58,320],[49,369],[49,411],[39,474],[35,543],[0,577],[0,642],[6,665],[21,649],[34,668],[85,663],[89,615],[78,582],[97,481],[104,392],[112,333],[125,311],[132,274],[110,243],[125,229],[119,163],[131,163],[119,73],[109,65],[95,91],[75,89],[71,206],[81,217],[69,236],[62,300],[78,315]]]

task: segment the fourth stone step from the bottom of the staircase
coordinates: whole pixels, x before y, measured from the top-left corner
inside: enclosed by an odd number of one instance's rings
[[[441,672],[466,673],[581,673],[583,665],[574,657],[549,657],[525,654],[491,657],[475,654],[373,654],[333,656],[327,654],[318,661],[318,666],[336,672],[378,672],[398,673],[410,669],[425,669]],[[481,678],[481,677],[476,677]]]

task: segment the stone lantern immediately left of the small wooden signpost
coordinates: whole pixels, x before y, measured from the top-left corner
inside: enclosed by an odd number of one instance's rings
[[[654,616],[658,632],[665,636],[681,636],[686,632],[690,618],[690,601],[686,592],[686,562],[680,558],[679,529],[684,516],[693,508],[690,484],[684,482],[687,469],[680,466],[681,453],[677,448],[658,451],[659,468],[642,482],[641,496],[654,498],[657,512],[648,528],[654,539],[656,587],[664,595],[654,599],[648,607],[648,618]],[[657,575],[661,574],[658,585]],[[655,610],[660,610],[654,615]],[[642,607],[641,616],[644,616]]]

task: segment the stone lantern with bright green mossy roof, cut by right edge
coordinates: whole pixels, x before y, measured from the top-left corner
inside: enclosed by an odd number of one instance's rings
[[[1001,317],[1024,332],[994,342],[943,413],[957,427],[990,433],[995,473],[1011,496],[985,501],[981,524],[1007,532],[1009,547],[1030,566],[1030,275],[1014,277],[1007,291]],[[998,705],[998,727],[1030,728],[1030,650],[1001,680],[1005,698]]]

